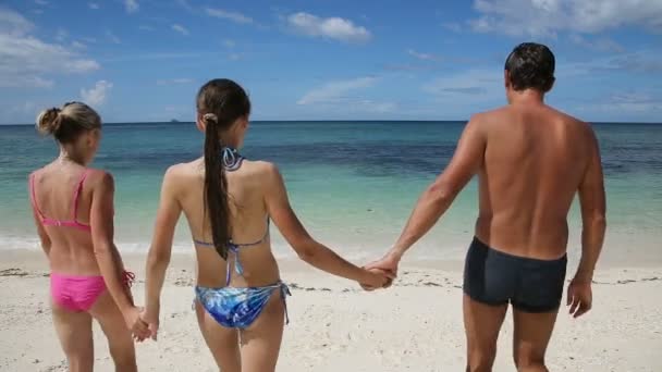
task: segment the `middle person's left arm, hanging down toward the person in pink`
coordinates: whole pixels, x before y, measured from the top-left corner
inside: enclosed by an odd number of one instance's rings
[[[147,281],[145,283],[145,314],[143,320],[149,324],[152,338],[159,325],[160,297],[166,271],[170,263],[172,239],[182,207],[175,193],[175,168],[171,166],[163,176],[161,200],[157,212],[151,247],[147,255]]]

